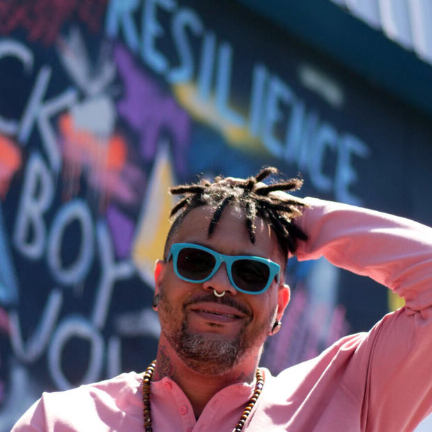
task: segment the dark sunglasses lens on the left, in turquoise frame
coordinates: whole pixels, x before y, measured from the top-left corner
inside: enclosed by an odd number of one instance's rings
[[[177,271],[187,279],[199,281],[210,275],[215,263],[215,257],[208,252],[185,247],[178,252]]]

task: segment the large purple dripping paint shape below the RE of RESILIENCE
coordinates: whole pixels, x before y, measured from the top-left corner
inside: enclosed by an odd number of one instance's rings
[[[117,103],[118,113],[139,133],[144,159],[154,159],[160,133],[166,130],[173,138],[176,168],[185,173],[185,151],[190,143],[189,115],[171,95],[160,90],[123,45],[114,47],[114,61],[124,85],[123,98]]]

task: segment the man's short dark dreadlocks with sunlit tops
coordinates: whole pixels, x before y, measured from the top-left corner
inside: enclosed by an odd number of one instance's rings
[[[182,213],[174,219],[167,236],[167,245],[173,233],[192,209],[199,206],[215,208],[208,226],[210,237],[226,206],[234,205],[245,211],[247,232],[252,243],[255,242],[254,220],[256,216],[259,216],[275,231],[284,256],[287,256],[288,251],[294,254],[297,240],[307,239],[306,234],[292,222],[295,217],[301,215],[300,209],[304,207],[304,203],[294,196],[282,199],[277,194],[270,194],[270,192],[298,190],[303,182],[299,178],[290,178],[270,185],[261,183],[264,178],[274,173],[278,173],[276,168],[267,167],[256,176],[246,179],[217,176],[213,183],[201,179],[198,183],[171,187],[169,190],[171,194],[184,197],[171,210],[170,217],[173,217],[183,209]],[[167,251],[165,251],[165,256],[166,254]]]

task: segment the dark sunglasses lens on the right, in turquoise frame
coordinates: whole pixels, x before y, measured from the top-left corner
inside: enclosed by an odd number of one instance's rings
[[[270,277],[268,265],[252,259],[234,261],[231,272],[236,285],[250,293],[261,291],[267,285]]]

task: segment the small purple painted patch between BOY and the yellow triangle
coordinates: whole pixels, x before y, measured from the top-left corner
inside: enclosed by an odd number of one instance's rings
[[[111,205],[107,208],[107,224],[116,256],[120,259],[128,258],[135,230],[134,221]]]

